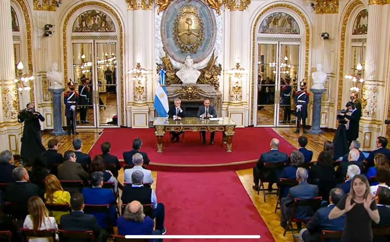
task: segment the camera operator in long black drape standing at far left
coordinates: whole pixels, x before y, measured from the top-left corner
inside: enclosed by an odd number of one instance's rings
[[[35,158],[40,158],[46,150],[42,145],[41,124],[45,118],[41,113],[35,111],[34,104],[28,103],[26,108],[18,115],[18,122],[25,123],[23,136],[21,138],[20,157],[24,165],[32,164]]]

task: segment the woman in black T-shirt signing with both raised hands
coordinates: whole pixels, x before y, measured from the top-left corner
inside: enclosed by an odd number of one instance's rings
[[[370,192],[370,184],[364,175],[353,177],[351,190],[332,209],[328,217],[335,219],[343,214],[346,214],[343,242],[372,241],[371,220],[379,223],[379,213]]]

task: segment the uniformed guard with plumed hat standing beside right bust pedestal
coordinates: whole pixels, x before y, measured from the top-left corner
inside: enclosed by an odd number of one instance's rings
[[[299,134],[299,129],[302,120],[303,133],[306,134],[306,118],[307,118],[307,104],[309,102],[309,94],[305,90],[306,83],[301,81],[299,90],[295,92],[294,104],[296,113],[296,131],[295,134]]]

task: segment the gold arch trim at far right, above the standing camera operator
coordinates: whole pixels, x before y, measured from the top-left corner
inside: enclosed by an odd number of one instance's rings
[[[337,90],[337,110],[341,110],[341,102],[342,102],[342,93],[343,93],[343,81],[344,81],[344,57],[345,57],[345,47],[346,47],[346,42],[345,42],[345,35],[347,31],[347,24],[348,24],[348,19],[349,16],[351,15],[351,12],[357,5],[363,4],[362,2],[356,0],[352,2],[345,14],[344,17],[342,18],[342,25],[341,25],[341,34],[340,34],[340,62],[339,62],[339,87]]]

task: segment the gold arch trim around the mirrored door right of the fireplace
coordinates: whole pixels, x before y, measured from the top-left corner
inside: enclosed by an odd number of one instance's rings
[[[254,104],[255,92],[257,92],[257,89],[254,88],[254,86],[255,86],[255,68],[257,68],[257,57],[255,57],[255,54],[256,54],[256,34],[257,34],[257,30],[258,30],[257,23],[259,22],[259,20],[262,18],[262,16],[264,14],[266,14],[268,11],[270,11],[272,9],[276,9],[276,8],[289,9],[289,10],[295,12],[296,14],[298,14],[298,16],[300,16],[300,18],[303,22],[303,25],[305,26],[305,72],[304,72],[303,78],[304,78],[306,83],[308,81],[309,48],[310,48],[310,26],[308,24],[308,21],[307,21],[305,15],[303,15],[303,13],[299,9],[297,9],[296,7],[294,7],[292,5],[289,5],[289,4],[271,5],[267,8],[265,8],[263,11],[261,11],[259,16],[257,16],[257,18],[254,22],[254,28],[253,28],[253,32],[252,32],[252,85],[251,85],[251,88],[252,88],[251,104],[252,105]],[[250,111],[250,123],[251,124],[253,123],[253,113],[254,113],[254,111]]]

